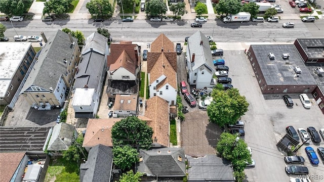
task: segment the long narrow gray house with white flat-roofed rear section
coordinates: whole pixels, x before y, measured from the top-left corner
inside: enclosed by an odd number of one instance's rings
[[[109,55],[107,40],[98,32],[86,39],[82,60],[75,67],[72,106],[76,118],[93,118],[97,113]]]

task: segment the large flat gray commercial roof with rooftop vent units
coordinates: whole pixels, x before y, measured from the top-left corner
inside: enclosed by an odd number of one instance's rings
[[[303,63],[293,44],[251,45],[267,85],[316,85],[316,81]],[[268,53],[273,53],[270,60]],[[282,54],[290,57],[284,60]],[[294,68],[298,66],[301,74],[297,77]]]

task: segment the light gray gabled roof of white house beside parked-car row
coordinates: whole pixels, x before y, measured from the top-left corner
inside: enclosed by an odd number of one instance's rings
[[[200,41],[203,41],[203,44],[200,45]],[[213,64],[213,57],[211,54],[211,48],[209,45],[209,41],[207,37],[201,33],[200,31],[197,31],[193,35],[191,35],[188,38],[188,44],[187,44],[187,51],[189,52],[190,57],[187,59],[192,58],[192,54],[195,54],[194,62],[191,63],[191,70],[198,69],[201,65],[207,65],[209,69],[214,69]]]

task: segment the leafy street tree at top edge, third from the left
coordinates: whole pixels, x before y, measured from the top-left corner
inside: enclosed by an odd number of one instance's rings
[[[111,16],[114,10],[109,1],[104,0],[91,0],[86,4],[86,8],[92,16],[97,17],[103,17],[104,15]]]

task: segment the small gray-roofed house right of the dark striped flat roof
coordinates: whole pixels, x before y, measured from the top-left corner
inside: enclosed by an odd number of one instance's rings
[[[75,127],[61,122],[53,127],[47,150],[53,152],[67,150],[76,138],[77,131]]]

